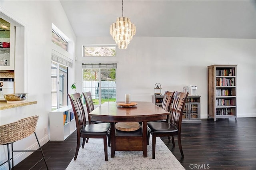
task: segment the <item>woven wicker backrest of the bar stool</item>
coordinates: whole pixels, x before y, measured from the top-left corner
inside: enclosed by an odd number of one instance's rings
[[[39,115],[0,126],[0,145],[26,138],[36,132]]]

